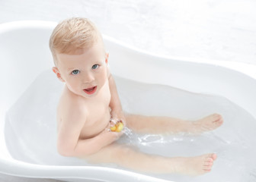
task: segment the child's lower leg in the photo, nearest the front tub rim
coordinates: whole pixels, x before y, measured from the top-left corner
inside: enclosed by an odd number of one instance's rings
[[[124,168],[142,172],[199,175],[211,170],[216,154],[166,158],[159,155],[142,153],[129,146],[111,144],[87,159],[88,162],[115,163]]]

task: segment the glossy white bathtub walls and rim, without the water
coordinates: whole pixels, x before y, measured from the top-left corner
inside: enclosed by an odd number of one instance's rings
[[[56,23],[21,21],[0,25],[0,172],[21,177],[70,181],[166,181],[114,168],[36,165],[18,161],[5,143],[5,113],[38,74],[53,67],[48,48]],[[150,55],[104,36],[113,74],[194,93],[224,96],[256,118],[256,66],[238,62],[197,61]],[[205,63],[203,63],[205,62]],[[145,67],[143,73],[136,67]],[[33,69],[32,69],[33,68]],[[155,74],[152,74],[155,73]],[[256,136],[256,134],[255,134]]]

